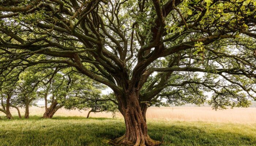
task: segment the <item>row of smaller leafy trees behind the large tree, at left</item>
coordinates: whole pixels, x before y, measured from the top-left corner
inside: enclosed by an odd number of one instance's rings
[[[12,71],[15,74],[15,71]],[[12,75],[13,75],[12,74]],[[45,113],[42,118],[52,118],[57,110],[64,107],[72,110],[89,110],[91,112],[117,111],[112,93],[102,95],[106,86],[74,72],[72,69],[49,69],[42,67],[27,68],[17,74],[18,78],[2,81],[0,111],[8,119],[13,119],[10,108],[15,108],[19,118],[20,109],[25,109],[24,118],[29,118],[29,108],[38,106],[38,100],[45,100]]]

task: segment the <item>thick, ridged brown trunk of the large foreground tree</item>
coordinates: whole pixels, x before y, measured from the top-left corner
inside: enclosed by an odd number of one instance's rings
[[[120,104],[124,105],[124,104]],[[143,113],[144,111],[144,113]],[[157,146],[161,142],[154,141],[148,135],[146,123],[146,110],[140,107],[139,92],[127,92],[126,106],[121,107],[124,115],[126,132],[110,143],[125,146]]]

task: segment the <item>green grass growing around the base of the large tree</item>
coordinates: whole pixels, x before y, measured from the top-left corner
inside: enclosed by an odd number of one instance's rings
[[[0,120],[0,146],[108,146],[125,132],[122,119],[15,118]],[[148,120],[148,131],[162,146],[256,146],[256,124]]]

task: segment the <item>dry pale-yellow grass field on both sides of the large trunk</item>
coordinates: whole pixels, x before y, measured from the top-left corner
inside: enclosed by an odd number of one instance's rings
[[[25,109],[20,109],[22,116]],[[17,115],[15,109],[11,109],[12,115]],[[61,108],[54,116],[87,116],[88,111],[65,110]],[[44,108],[31,107],[30,115],[41,116]],[[0,116],[4,116],[0,113]],[[120,113],[116,114],[121,118]],[[111,113],[91,113],[90,117],[112,118]],[[211,107],[150,107],[147,111],[148,119],[180,120],[180,121],[204,121],[222,123],[256,123],[256,108],[234,108],[227,110],[212,110]]]

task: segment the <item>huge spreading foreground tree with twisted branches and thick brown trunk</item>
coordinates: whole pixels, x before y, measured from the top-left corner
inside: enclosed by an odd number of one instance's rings
[[[0,69],[72,66],[113,90],[126,124],[114,145],[154,146],[146,111],[159,99],[200,104],[213,91],[214,108],[256,99],[255,8],[252,0],[1,2]]]

